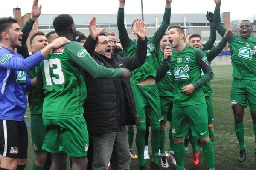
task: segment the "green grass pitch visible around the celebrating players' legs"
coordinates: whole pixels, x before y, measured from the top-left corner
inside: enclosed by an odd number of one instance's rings
[[[214,151],[215,151],[215,169],[216,170],[255,170],[256,163],[254,161],[254,135],[253,135],[253,122],[250,117],[250,110],[246,108],[244,111],[244,126],[245,126],[245,143],[249,149],[247,153],[246,161],[239,163],[237,158],[239,157],[239,144],[236,139],[234,131],[234,118],[233,112],[230,107],[230,86],[232,81],[232,67],[231,65],[214,66],[214,79],[212,79],[212,99],[214,102],[215,113],[215,139],[214,139]],[[28,116],[29,110],[26,112]],[[26,122],[30,123],[30,117],[26,118]],[[166,128],[166,150],[169,150],[168,130],[169,123]],[[32,161],[34,159],[34,153],[32,150],[30,129],[29,131],[29,150],[28,150],[28,164],[26,170],[32,170]],[[134,136],[135,138],[135,136]],[[150,145],[150,142],[148,142]],[[134,150],[137,153],[135,139]],[[149,154],[151,155],[151,148],[149,146]],[[150,160],[147,160],[147,169],[149,169]],[[168,170],[174,170],[170,161]],[[207,170],[207,165],[204,161],[204,156],[200,156],[200,164],[193,166],[192,164],[192,148],[189,146],[189,150],[185,156],[185,167],[187,170]],[[138,169],[138,160],[131,160],[131,170]],[[160,168],[161,169],[161,168]]]

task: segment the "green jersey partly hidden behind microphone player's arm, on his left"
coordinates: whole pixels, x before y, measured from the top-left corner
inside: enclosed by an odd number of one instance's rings
[[[158,52],[159,62],[163,59],[163,51]],[[157,82],[157,88],[159,96],[173,96],[174,84],[172,81],[171,71],[168,70],[166,76],[163,77],[159,82]]]

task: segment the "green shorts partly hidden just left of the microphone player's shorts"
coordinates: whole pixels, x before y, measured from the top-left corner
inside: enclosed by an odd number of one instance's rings
[[[160,96],[161,123],[172,121],[173,96]]]

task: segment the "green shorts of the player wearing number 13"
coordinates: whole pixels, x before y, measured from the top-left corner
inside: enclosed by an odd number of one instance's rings
[[[51,153],[65,152],[73,157],[87,156],[89,139],[84,117],[44,119],[44,125],[44,150]]]

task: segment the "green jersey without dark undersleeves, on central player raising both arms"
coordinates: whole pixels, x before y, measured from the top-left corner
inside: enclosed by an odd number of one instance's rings
[[[130,48],[124,51],[125,56],[133,56],[135,54],[137,42],[134,40],[134,44],[131,45]],[[131,84],[137,84],[148,76],[156,77],[156,70],[158,67],[157,56],[155,52],[154,43],[148,39],[148,50],[147,50],[147,58],[143,65],[139,68],[131,71]]]

